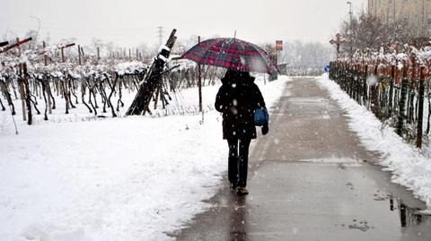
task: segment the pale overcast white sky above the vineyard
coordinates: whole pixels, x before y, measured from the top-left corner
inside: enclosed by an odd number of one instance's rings
[[[351,0],[354,11],[364,0]],[[158,43],[157,27],[172,28],[180,39],[191,35],[233,37],[256,43],[275,39],[327,42],[347,19],[346,0],[1,0],[0,34],[22,37],[37,30],[53,41],[92,38],[119,46]]]

